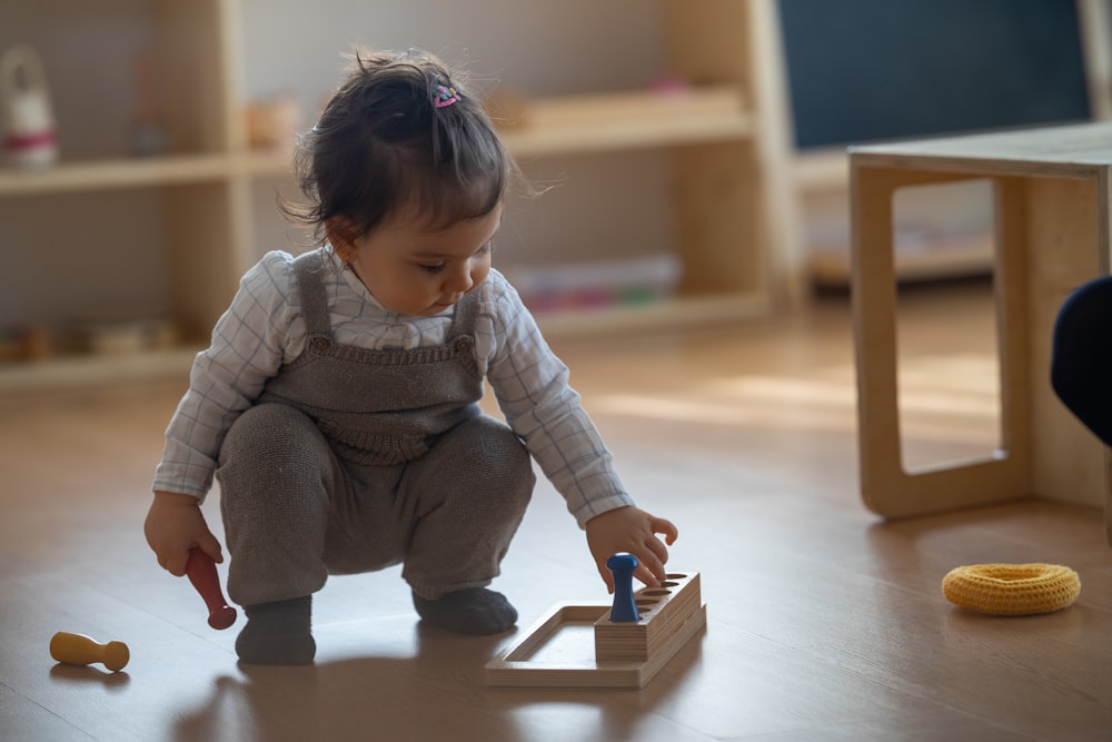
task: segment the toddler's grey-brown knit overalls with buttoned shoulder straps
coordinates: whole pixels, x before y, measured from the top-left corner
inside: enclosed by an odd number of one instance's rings
[[[520,439],[478,406],[477,293],[444,345],[369,350],[334,342],[319,251],[294,269],[306,348],[220,448],[231,600],[301,597],[328,574],[401,563],[420,597],[489,584],[535,476]]]

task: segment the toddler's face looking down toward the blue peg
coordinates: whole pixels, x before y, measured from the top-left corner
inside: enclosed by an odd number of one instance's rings
[[[486,280],[490,240],[500,222],[500,204],[486,216],[444,229],[405,215],[356,239],[340,257],[384,307],[430,317]]]

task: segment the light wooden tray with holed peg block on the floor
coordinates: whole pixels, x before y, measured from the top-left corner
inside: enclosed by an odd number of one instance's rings
[[[706,605],[697,572],[668,574],[634,598],[636,622],[612,622],[608,604],[556,604],[487,663],[486,684],[644,687],[706,625]]]

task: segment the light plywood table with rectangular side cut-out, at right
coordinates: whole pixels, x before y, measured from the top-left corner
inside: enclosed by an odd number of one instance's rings
[[[866,506],[896,518],[1041,496],[1103,506],[1112,542],[1109,452],[1050,386],[1059,307],[1078,285],[1109,273],[1112,123],[855,147],[850,167]],[[907,472],[897,408],[893,196],[970,178],[991,179],[995,192],[1002,445],[981,461]]]

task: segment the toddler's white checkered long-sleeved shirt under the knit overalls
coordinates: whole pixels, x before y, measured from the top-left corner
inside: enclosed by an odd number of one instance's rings
[[[385,309],[331,250],[322,275],[335,340],[363,348],[439,345],[454,309],[434,317]],[[267,379],[305,347],[306,325],[294,290],[294,256],[268,253],[240,283],[231,306],[197,355],[189,390],[166,432],[156,491],[203,497],[212,486],[225,433],[262,392]],[[633,499],[615,473],[610,454],[567,366],[552,352],[517,291],[497,270],[477,289],[475,358],[509,426],[526,442],[568,511],[584,525]]]

